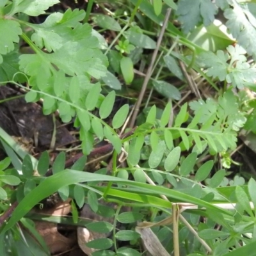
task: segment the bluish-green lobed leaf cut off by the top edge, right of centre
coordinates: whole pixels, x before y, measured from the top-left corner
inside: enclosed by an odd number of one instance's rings
[[[180,0],[177,15],[182,23],[182,30],[184,33],[188,33],[202,21],[205,26],[209,26],[213,22],[217,10],[211,0]]]

